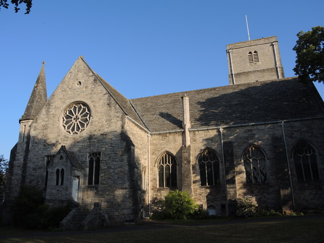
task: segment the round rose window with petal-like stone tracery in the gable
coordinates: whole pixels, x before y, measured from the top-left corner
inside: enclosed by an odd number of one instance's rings
[[[85,103],[69,105],[62,115],[62,126],[65,132],[71,135],[85,130],[90,121],[90,108]]]

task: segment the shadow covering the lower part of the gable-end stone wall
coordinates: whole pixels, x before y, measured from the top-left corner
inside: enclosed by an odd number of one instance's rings
[[[141,208],[141,188],[139,185],[141,167],[138,166],[140,161],[134,154],[134,148],[132,148],[134,144],[124,132],[90,135],[84,136],[82,139],[78,137],[77,141],[71,136],[70,139],[57,140],[56,143],[48,142],[46,139],[33,138],[31,139],[26,167],[24,167],[22,174],[13,174],[18,164],[22,165],[23,162],[17,161],[15,156],[11,156],[13,160],[10,161],[10,177],[20,181],[22,177],[25,177],[26,184],[41,189],[46,196],[45,157],[55,155],[62,145],[66,147],[67,151],[74,152],[84,168],[83,182],[79,188],[79,190],[82,190],[81,205],[92,209],[93,204],[99,202],[110,220],[136,222]],[[37,149],[39,147],[42,149]],[[87,155],[89,152],[101,152],[99,185],[87,185],[89,168]],[[49,173],[55,173],[55,171]],[[68,187],[72,185],[70,180],[73,179],[68,178],[69,176],[64,176],[64,183],[67,183],[66,186]],[[12,181],[12,178],[9,178],[8,182]],[[49,181],[48,183],[55,182]],[[7,198],[9,197],[5,204],[7,209],[15,191],[18,194],[20,188],[13,187],[10,183],[8,186],[7,191],[11,191],[12,196],[7,196]]]

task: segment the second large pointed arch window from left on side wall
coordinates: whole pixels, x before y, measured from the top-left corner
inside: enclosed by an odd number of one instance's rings
[[[201,151],[198,156],[198,164],[201,186],[211,186],[220,183],[219,159],[214,150],[206,148]]]

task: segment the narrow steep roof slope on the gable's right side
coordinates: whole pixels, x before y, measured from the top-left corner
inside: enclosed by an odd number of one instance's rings
[[[79,58],[81,58],[85,62],[85,64],[89,67],[89,69],[95,74],[95,76],[99,79],[100,83],[106,88],[106,90],[108,91],[108,93],[115,100],[115,102],[119,105],[119,107],[125,112],[125,114],[127,114],[128,116],[130,116],[133,120],[135,120],[141,126],[145,127],[143,121],[138,116],[137,112],[135,111],[135,109],[132,106],[132,104],[130,103],[130,101],[124,95],[120,94],[110,84],[108,84],[105,79],[103,79],[101,76],[99,76],[99,74],[96,73],[88,65],[88,63],[84,60],[83,57],[79,57]]]

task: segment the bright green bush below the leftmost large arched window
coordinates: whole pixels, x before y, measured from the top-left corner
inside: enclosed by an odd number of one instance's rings
[[[169,191],[164,200],[157,200],[156,203],[160,205],[153,212],[153,219],[187,219],[198,209],[186,191]]]

